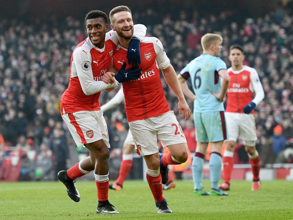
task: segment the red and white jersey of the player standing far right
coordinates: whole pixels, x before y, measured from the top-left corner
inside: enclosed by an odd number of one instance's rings
[[[226,112],[244,113],[243,107],[251,102],[258,105],[265,97],[259,75],[254,68],[243,66],[240,70],[228,70],[230,83],[227,90]],[[253,93],[255,98],[252,100]],[[253,114],[251,111],[250,114]]]

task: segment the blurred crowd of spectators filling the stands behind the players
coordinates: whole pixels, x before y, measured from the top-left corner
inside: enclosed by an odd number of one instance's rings
[[[209,8],[168,8],[168,1],[159,5],[151,2],[144,9],[128,6],[134,23],[146,25],[147,36],[161,40],[177,73],[202,53],[200,40],[205,33],[222,35],[221,58],[227,67],[231,66],[227,58],[229,47],[243,45],[245,64],[257,70],[265,91],[265,99],[255,110],[256,147],[261,164],[292,163],[292,1],[279,2],[273,9],[255,15],[241,8],[228,7],[212,13]],[[0,17],[0,180],[53,180],[56,172],[87,155],[85,148],[76,148],[62,121],[60,99],[69,83],[72,51],[87,37],[84,17],[91,9],[100,8],[89,7],[79,16],[68,13],[40,18]],[[111,9],[105,5],[101,8],[107,14]],[[194,152],[193,119],[180,118],[177,98],[161,79],[170,108],[177,115],[190,151]],[[117,91],[103,91],[101,105]],[[188,100],[188,104],[192,110],[192,101]],[[124,105],[104,112],[104,117],[111,144],[110,169],[115,175],[128,132]],[[248,162],[241,141],[234,161]],[[15,176],[17,170],[20,172]]]

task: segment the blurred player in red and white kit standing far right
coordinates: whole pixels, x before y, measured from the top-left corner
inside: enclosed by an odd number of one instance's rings
[[[245,56],[240,45],[230,47],[229,60],[232,67],[228,69],[231,78],[227,91],[226,120],[228,125],[229,139],[226,141],[226,149],[223,155],[223,179],[220,185],[223,190],[230,190],[230,178],[233,169],[233,154],[237,138],[244,141],[245,151],[249,157],[253,182],[251,190],[259,190],[259,154],[255,149],[257,140],[255,133],[254,111],[265,94],[259,76],[254,68],[243,65]],[[253,93],[255,97],[252,99]]]

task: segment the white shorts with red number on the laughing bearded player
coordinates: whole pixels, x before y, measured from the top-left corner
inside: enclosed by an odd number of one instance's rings
[[[173,111],[163,115],[129,122],[136,153],[142,156],[159,152],[157,139],[163,147],[186,143],[186,138]]]

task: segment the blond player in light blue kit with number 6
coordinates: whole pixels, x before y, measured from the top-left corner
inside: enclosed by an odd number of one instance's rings
[[[178,75],[184,94],[194,100],[194,125],[196,130],[196,152],[192,161],[194,195],[209,195],[201,184],[204,155],[211,142],[209,162],[212,189],[210,195],[228,195],[218,186],[222,166],[222,144],[228,134],[222,103],[229,85],[229,75],[224,61],[218,56],[222,50],[222,37],[218,34],[205,34],[201,37],[203,54],[190,61]],[[223,83],[219,81],[221,76]],[[194,94],[187,86],[191,78]]]

